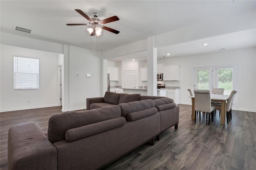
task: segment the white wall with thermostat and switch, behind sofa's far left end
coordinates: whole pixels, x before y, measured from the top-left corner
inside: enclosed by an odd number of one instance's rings
[[[69,110],[86,108],[86,98],[102,96],[101,56],[80,47],[69,47]],[[100,55],[100,54],[99,54]],[[91,77],[86,77],[90,73]],[[76,76],[79,74],[79,77]]]

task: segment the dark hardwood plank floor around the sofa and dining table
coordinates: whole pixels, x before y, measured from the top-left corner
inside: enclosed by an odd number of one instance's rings
[[[1,170],[7,169],[8,129],[34,122],[46,132],[49,117],[56,113],[61,107],[0,113]],[[220,125],[217,111],[209,126],[204,114],[196,123],[190,115],[191,106],[180,105],[177,130],[166,130],[154,146],[144,144],[104,169],[256,170],[256,113],[234,110],[230,123]]]

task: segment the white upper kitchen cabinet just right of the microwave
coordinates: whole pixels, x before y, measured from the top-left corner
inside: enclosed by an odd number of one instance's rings
[[[179,65],[163,66],[163,81],[178,81],[178,80],[180,80]]]

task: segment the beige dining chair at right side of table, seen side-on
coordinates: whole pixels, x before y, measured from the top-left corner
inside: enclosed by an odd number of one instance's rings
[[[234,101],[234,97],[236,95],[237,91],[236,90],[233,90],[231,91],[229,97],[228,97],[228,101],[226,103],[226,117],[227,117],[227,123],[228,121],[230,121],[230,119],[232,119],[232,103]],[[219,103],[214,103],[212,104],[212,106],[215,107],[215,110],[218,110],[220,111],[220,108],[221,108],[221,104]]]

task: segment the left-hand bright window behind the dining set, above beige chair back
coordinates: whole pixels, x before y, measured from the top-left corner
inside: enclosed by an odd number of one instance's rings
[[[209,70],[197,70],[196,82],[198,89],[209,90]]]

